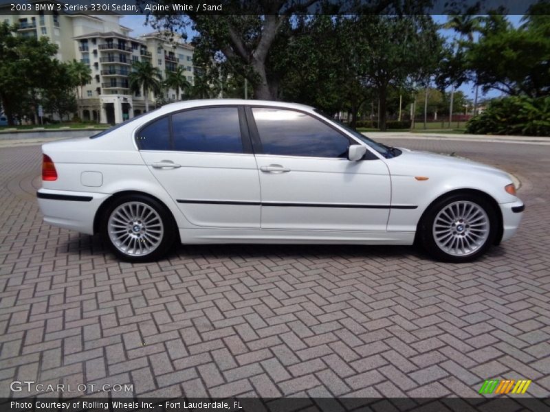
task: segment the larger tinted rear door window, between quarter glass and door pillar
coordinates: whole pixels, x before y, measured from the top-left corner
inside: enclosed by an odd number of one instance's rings
[[[236,107],[210,107],[172,115],[174,150],[242,153],[239,111]]]

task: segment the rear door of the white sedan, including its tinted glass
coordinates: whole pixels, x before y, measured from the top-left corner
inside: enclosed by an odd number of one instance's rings
[[[193,225],[258,228],[260,183],[243,108],[172,113],[136,135],[141,155]]]

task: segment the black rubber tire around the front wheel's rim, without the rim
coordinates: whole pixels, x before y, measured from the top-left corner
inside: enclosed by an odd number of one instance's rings
[[[487,240],[485,240],[485,243],[482,247],[480,247],[471,255],[467,256],[454,256],[445,253],[445,251],[439,249],[432,234],[434,220],[439,211],[441,211],[443,207],[449,205],[450,203],[454,203],[457,201],[476,203],[476,205],[482,207],[485,210],[485,213],[489,217],[489,236],[487,236]],[[426,251],[430,253],[430,255],[443,262],[472,262],[472,260],[476,260],[477,258],[479,258],[481,255],[483,255],[483,253],[487,251],[487,249],[489,249],[489,247],[491,247],[492,244],[494,244],[498,227],[498,219],[496,216],[497,215],[494,206],[482,196],[476,196],[474,194],[454,194],[447,196],[431,205],[426,211],[426,214],[424,214],[422,221],[419,225],[421,244],[424,249],[426,249]]]

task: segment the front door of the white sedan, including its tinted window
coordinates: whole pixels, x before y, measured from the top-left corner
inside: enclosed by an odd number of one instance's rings
[[[262,229],[386,230],[391,183],[384,161],[349,161],[356,142],[309,113],[254,107],[250,114]]]

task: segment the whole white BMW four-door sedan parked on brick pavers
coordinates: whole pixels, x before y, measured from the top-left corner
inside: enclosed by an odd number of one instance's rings
[[[198,243],[413,244],[466,262],[507,240],[509,174],[391,148],[300,104],[168,104],[98,135],[43,145],[50,225],[100,233],[124,260]]]

